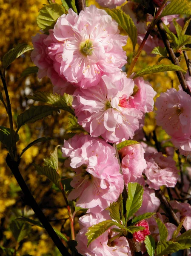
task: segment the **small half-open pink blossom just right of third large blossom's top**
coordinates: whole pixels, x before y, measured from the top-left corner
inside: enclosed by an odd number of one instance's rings
[[[144,159],[144,149],[140,144],[133,144],[122,148],[119,151],[121,167],[123,171],[124,182],[135,181],[137,177],[141,177],[144,169],[147,167]]]

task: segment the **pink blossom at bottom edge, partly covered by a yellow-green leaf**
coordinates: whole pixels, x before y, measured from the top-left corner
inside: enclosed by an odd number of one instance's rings
[[[102,213],[104,215],[102,215]],[[113,241],[110,242],[114,236],[117,235],[116,232],[111,231],[113,227],[105,231],[101,236],[91,242],[89,247],[87,247],[88,239],[85,236],[88,231],[88,227],[91,227],[94,224],[97,224],[101,221],[109,220],[111,217],[105,214],[105,211],[98,214],[86,214],[83,217],[80,217],[80,227],[81,230],[76,236],[77,251],[86,256],[126,256],[128,255],[130,249],[128,247],[128,241],[125,237],[116,237]]]

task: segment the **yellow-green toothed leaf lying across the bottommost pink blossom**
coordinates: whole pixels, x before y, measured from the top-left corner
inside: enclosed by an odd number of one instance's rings
[[[88,231],[86,232],[86,236],[88,239],[88,244],[87,246],[89,246],[89,244],[94,241],[95,239],[97,239],[99,236],[101,236],[105,231],[107,231],[110,227],[116,225],[117,227],[121,227],[124,228],[122,225],[120,225],[119,223],[117,223],[116,221],[111,221],[111,220],[107,220],[107,221],[102,221],[98,224],[95,224],[91,227],[88,228]]]

